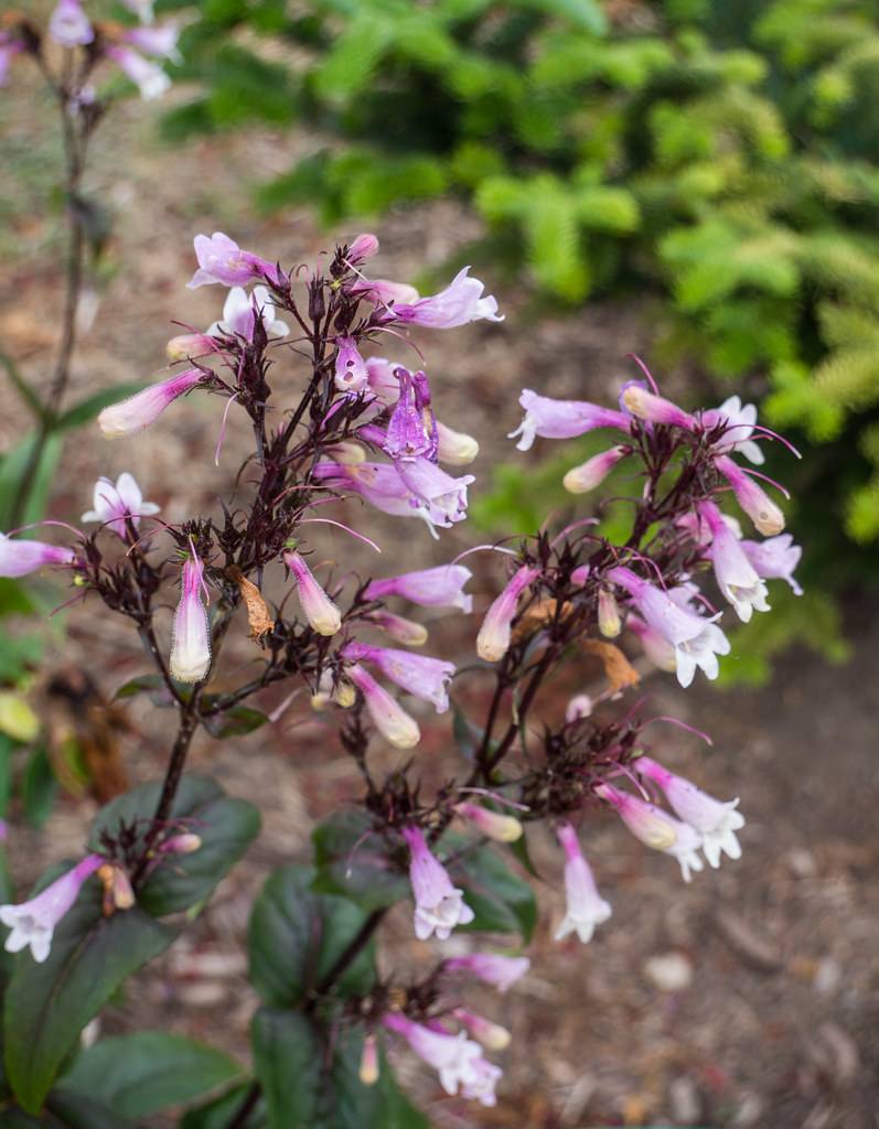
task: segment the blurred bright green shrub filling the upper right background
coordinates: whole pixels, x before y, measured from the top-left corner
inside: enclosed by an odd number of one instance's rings
[[[181,6],[169,0],[166,8]],[[186,5],[185,7],[191,7]],[[328,227],[445,194],[533,314],[649,296],[652,356],[746,382],[818,445],[792,485],[808,598],[747,633],[760,680],[794,640],[842,658],[834,595],[879,542],[879,89],[871,0],[201,0],[167,138],[269,123],[319,142],[255,189]],[[282,143],[282,142],[281,142]],[[514,273],[515,272],[515,273]],[[772,465],[768,467],[772,473]],[[530,528],[525,473],[478,517]],[[517,478],[519,476],[519,478]],[[541,481],[555,481],[546,469]],[[504,522],[495,520],[503,514]]]

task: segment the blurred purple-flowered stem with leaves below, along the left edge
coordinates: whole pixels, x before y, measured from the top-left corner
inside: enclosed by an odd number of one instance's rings
[[[92,426],[106,404],[143,386],[142,380],[116,383],[68,403],[78,340],[97,314],[99,281],[118,269],[105,256],[113,213],[87,183],[87,157],[105,115],[133,82],[147,100],[169,86],[162,65],[147,56],[175,56],[174,26],[153,24],[148,0],[92,6],[93,18],[107,17],[94,24],[77,5],[61,9],[64,18],[35,23],[52,10],[49,3],[7,10],[0,23],[0,85],[15,82],[19,69],[35,68],[43,80],[41,97],[55,115],[56,143],[43,149],[32,141],[14,156],[58,215],[59,229],[41,250],[62,279],[60,309],[41,326],[55,339],[51,366],[28,378],[6,343],[0,349],[0,368],[32,425],[0,455],[0,528],[7,531],[45,518],[66,438]],[[0,215],[10,221],[33,207],[29,193],[0,196]],[[62,641],[62,618],[49,618],[64,599],[62,592],[46,578],[27,587],[0,578],[0,819],[15,793],[36,828],[49,817],[59,782],[104,799],[119,790],[112,784],[119,770],[112,714],[110,725],[98,719],[94,707],[106,703],[84,672],[55,671],[42,679],[45,700],[56,707],[51,716],[37,716],[31,703],[38,669],[52,666],[52,650]]]

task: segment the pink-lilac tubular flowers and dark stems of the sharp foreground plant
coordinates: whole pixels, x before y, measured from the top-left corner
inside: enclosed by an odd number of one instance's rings
[[[368,840],[383,876],[395,876],[403,887],[408,878],[420,942],[443,943],[454,930],[482,928],[475,857],[488,844],[517,842],[537,822],[547,823],[560,844],[566,912],[559,940],[575,935],[589,943],[611,916],[581,849],[582,828],[592,819],[618,817],[641,843],[677,859],[687,882],[704,861],[717,867],[722,855],[740,856],[737,832],[745,819],[738,800],[715,799],[664,768],[646,747],[651,718],[641,708],[616,715],[612,703],[638,681],[625,648],[639,646],[656,667],[675,672],[681,686],[691,684],[697,669],[714,679],[731,645],[720,625],[723,612],[712,601],[724,601],[748,621],[768,611],[768,580],[784,579],[799,592],[793,569],[800,550],[758,483],[760,472],[738,461],[759,464],[761,443],[777,437],[738,397],[687,412],[662,397],[652,378],[627,384],[613,408],[523,392],[525,415],[513,432],[520,449],[538,437],[612,432],[608,448],[572,467],[564,484],[580,497],[617,471],[627,475],[624,481],[637,480],[630,535],[611,541],[597,519],[572,516],[557,532],[545,528],[516,548],[494,546],[507,562],[506,583],[487,602],[468,645],[482,684],[494,689],[485,716],[467,717],[468,699],[458,692],[463,672],[417,651],[428,630],[411,616],[417,609],[469,614],[470,569],[455,559],[363,580],[337,575],[311,536],[317,532],[312,526],[329,523],[378,548],[364,532],[368,507],[418,517],[434,536],[467,517],[473,476],[454,476],[443,465],[469,464],[476,440],[436,418],[426,367],[407,368],[373,351],[388,351],[389,339],[407,341],[419,326],[499,321],[497,304],[468,270],[428,297],[408,283],[371,279],[365,265],[377,251],[375,237],[362,235],[337,248],[323,270],[293,269],[242,250],[221,233],[198,236],[190,287],[227,288],[221,316],[168,342],[164,379],[102,411],[105,437],[134,437],[183,396],[223,400],[217,457],[228,412],[244,412],[256,469],[246,505],[230,501],[219,517],[166,525],[132,476],[122,474],[115,483],[98,481],[94,508],[82,515],[98,528],[73,530],[70,544],[0,534],[0,576],[45,566],[66,570],[78,593],[132,621],[181,719],[147,831],[127,851],[88,856],[31,902],[0,908],[0,921],[14,926],[7,947],[31,944],[35,957],[45,960],[55,925],[88,876],[97,874],[113,911],[124,912],[165,854],[198,849],[191,831],[168,831],[193,732],[200,725],[211,732],[224,712],[294,679],[304,682],[325,718],[338,718],[342,744],[365,781],[367,829],[349,844],[342,870]],[[311,378],[293,402],[279,403],[270,385],[273,366],[303,351],[311,357]],[[738,519],[721,508],[728,493],[764,540],[742,537]],[[360,520],[348,510],[346,522],[325,516],[328,505],[346,500]],[[293,598],[270,606],[263,589],[270,583]],[[168,645],[156,612],[169,584],[179,594]],[[249,628],[246,639],[240,632],[240,646],[254,648],[244,666],[256,674],[232,689],[229,679],[217,679],[215,688],[223,689],[204,693],[238,611]],[[576,694],[556,717],[540,691],[576,657],[598,664],[602,689]],[[450,693],[455,698],[455,734],[467,762],[433,794],[417,778],[417,756],[382,774],[369,755],[375,738],[400,750],[421,741],[419,708],[402,703],[398,691],[437,715],[449,712]],[[364,1026],[364,1083],[377,1080],[377,1041],[389,1033],[438,1071],[446,1093],[493,1104],[501,1068],[484,1050],[503,1050],[510,1036],[453,1000],[453,983],[469,974],[504,991],[528,970],[528,959],[454,955],[424,981],[402,989],[376,983],[333,1009],[340,977],[385,908],[373,912],[307,1006],[320,1012],[330,1001],[333,1023]]]

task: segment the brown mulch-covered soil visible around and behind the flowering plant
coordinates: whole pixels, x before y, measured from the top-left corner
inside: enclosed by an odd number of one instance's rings
[[[59,219],[46,217],[44,207],[58,146],[49,106],[20,63],[12,81],[2,110],[0,201],[8,225],[0,340],[25,374],[44,385],[61,295]],[[69,403],[158,369],[164,342],[175,332],[172,320],[203,327],[218,316],[218,288],[184,289],[198,231],[226,230],[243,246],[281,261],[307,260],[331,245],[331,235],[353,234],[320,233],[304,210],[262,219],[250,208],[253,180],[286,169],[314,147],[313,137],[251,131],[168,150],[155,139],[155,114],[153,106],[128,103],[96,142],[89,187],[108,202],[115,227],[90,299],[94,320],[82,335]],[[442,203],[394,215],[378,234],[381,272],[404,279],[436,270],[478,228],[455,204]],[[482,444],[478,475],[487,474],[494,460],[514,457],[503,435],[519,420],[522,386],[555,395],[612,395],[628,375],[624,355],[649,352],[655,329],[649,312],[630,304],[586,306],[539,321],[517,317],[520,296],[495,289],[510,315],[502,326],[419,338],[442,418]],[[291,371],[279,371],[279,387],[281,380],[296,387]],[[122,470],[133,471],[169,522],[215,506],[232,489],[250,440],[233,417],[217,470],[216,408],[216,401],[190,399],[122,447],[105,444],[94,428],[77,432],[56,475],[52,515],[76,522],[90,505],[97,475]],[[26,422],[8,397],[0,444],[11,445]],[[438,563],[472,536],[459,527],[433,543],[420,528],[414,536],[411,526],[389,520],[381,526],[388,563],[380,562],[380,570]],[[340,567],[366,567],[365,555],[341,534],[321,537],[321,548]],[[490,563],[480,566],[478,607],[487,602],[489,575]],[[441,1096],[433,1077],[408,1056],[397,1056],[402,1078],[437,1127],[874,1129],[879,768],[871,688],[879,681],[879,625],[871,612],[862,609],[853,624],[854,657],[845,668],[791,653],[773,684],[759,692],[721,693],[706,684],[684,692],[665,676],[649,681],[649,709],[713,735],[714,747],[705,752],[681,730],[659,724],[650,730],[655,755],[669,767],[715,795],[741,797],[745,856],[687,886],[672,860],[649,854],[612,819],[597,821],[583,842],[613,916],[584,947],[552,940],[562,913],[560,865],[552,842],[537,833],[532,854],[542,876],[542,914],[528,951],[532,971],[506,997],[473,994],[477,1009],[514,1034],[497,1108]],[[462,616],[446,619],[437,622],[432,644],[463,658],[473,631]],[[242,640],[236,647],[233,653],[246,660],[247,645]],[[68,613],[53,665],[88,669],[107,697],[146,669],[127,625],[94,603]],[[558,709],[563,701],[559,688],[543,709]],[[157,732],[145,706],[128,712],[132,728],[122,737],[128,770],[136,780],[155,778],[165,755],[165,715]],[[325,720],[294,703],[270,736],[266,732],[197,743],[192,768],[259,805],[263,831],[193,927],[105,1010],[102,1033],[169,1029],[246,1058],[254,1008],[242,955],[249,907],[272,866],[307,857],[314,822],[356,796],[350,764]],[[426,732],[421,756],[428,781],[453,770],[447,737],[443,724]],[[386,751],[376,755],[393,762]],[[10,854],[20,890],[45,865],[81,849],[93,812],[90,800],[66,797],[38,834],[14,819]],[[388,970],[424,963],[426,952],[434,959],[438,951],[414,942],[407,912],[394,912],[385,931]],[[470,944],[455,938],[444,952]]]

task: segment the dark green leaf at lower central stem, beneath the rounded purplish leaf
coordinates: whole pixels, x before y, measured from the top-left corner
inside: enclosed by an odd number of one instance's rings
[[[320,983],[366,920],[345,898],[313,892],[314,870],[290,864],[276,870],[253,907],[250,975],[267,1004],[293,1007]],[[366,945],[337,988],[365,992],[375,980],[375,952]]]

